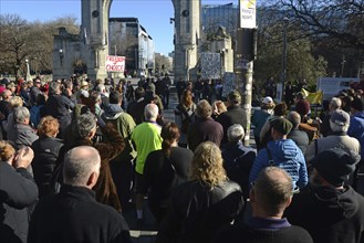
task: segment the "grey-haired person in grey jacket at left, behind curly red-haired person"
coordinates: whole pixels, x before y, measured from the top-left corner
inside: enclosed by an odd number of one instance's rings
[[[24,106],[13,110],[14,126],[8,130],[8,139],[14,142],[17,149],[22,146],[31,146],[39,137],[29,125],[30,113]]]

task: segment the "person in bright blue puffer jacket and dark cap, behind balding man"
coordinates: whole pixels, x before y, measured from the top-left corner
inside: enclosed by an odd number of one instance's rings
[[[250,171],[249,182],[256,181],[263,168],[277,166],[291,176],[294,190],[303,189],[309,182],[304,156],[292,139],[287,139],[293,125],[288,119],[279,117],[271,120],[270,126],[273,140],[258,152]]]

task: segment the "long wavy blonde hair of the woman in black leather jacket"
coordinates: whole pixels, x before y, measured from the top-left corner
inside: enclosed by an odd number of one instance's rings
[[[227,180],[221,151],[216,144],[205,141],[196,148],[190,178],[201,181],[211,189]]]

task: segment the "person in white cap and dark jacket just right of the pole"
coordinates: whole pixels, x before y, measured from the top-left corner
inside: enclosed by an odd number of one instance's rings
[[[275,104],[272,97],[267,96],[261,102],[260,109],[256,110],[251,117],[251,124],[254,125],[254,140],[257,150],[259,151],[262,146],[260,144],[260,131],[263,128],[264,124],[267,123],[268,118],[273,115],[273,108]]]

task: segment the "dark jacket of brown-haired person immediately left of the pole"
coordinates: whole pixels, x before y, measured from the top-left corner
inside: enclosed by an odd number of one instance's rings
[[[247,127],[247,116],[246,112],[240,108],[238,105],[232,105],[228,107],[228,112],[222,113],[217,120],[222,125],[223,128],[223,138],[221,140],[221,145],[226,145],[228,142],[228,128],[233,124],[240,124],[245,129]]]

